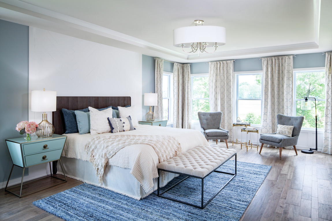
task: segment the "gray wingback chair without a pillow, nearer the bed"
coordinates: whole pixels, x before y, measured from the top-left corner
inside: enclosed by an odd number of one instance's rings
[[[218,139],[225,140],[228,148],[227,139],[229,131],[220,128],[222,112],[198,112],[198,119],[201,124],[201,132],[207,139],[214,140],[218,144]]]

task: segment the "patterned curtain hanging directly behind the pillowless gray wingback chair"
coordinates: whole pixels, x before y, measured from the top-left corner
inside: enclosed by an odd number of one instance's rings
[[[208,63],[210,111],[222,112],[220,127],[229,131],[229,139],[233,123],[233,63],[233,60]]]

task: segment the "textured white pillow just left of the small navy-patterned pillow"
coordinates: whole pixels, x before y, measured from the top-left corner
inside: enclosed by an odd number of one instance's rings
[[[93,107],[89,107],[90,111],[90,133],[102,134],[111,132],[110,124],[108,123],[108,117],[112,118],[113,109],[108,108],[106,110],[99,111]]]

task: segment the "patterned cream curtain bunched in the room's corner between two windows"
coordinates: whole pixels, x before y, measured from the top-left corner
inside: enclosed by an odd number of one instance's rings
[[[190,65],[174,63],[173,69],[173,127],[191,129]]]

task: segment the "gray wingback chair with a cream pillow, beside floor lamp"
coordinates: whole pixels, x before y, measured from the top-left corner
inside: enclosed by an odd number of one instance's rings
[[[304,117],[292,117],[292,116],[286,116],[282,114],[277,114],[277,125],[287,125],[287,126],[294,126],[292,136],[288,137],[286,135],[281,135],[273,133],[273,134],[261,134],[259,138],[259,142],[262,143],[261,149],[259,150],[259,154],[261,154],[263,144],[269,144],[275,147],[279,147],[279,155],[281,159],[281,151],[283,147],[286,146],[293,146],[295,153],[297,155],[296,146],[298,136],[301,131],[302,123],[303,123]]]

